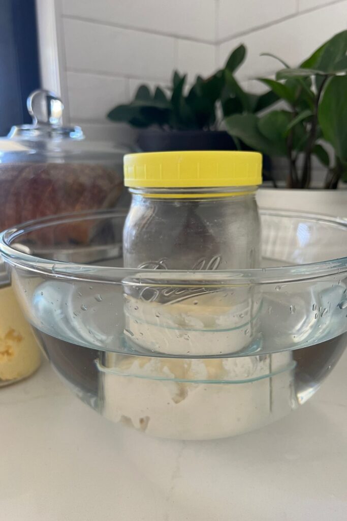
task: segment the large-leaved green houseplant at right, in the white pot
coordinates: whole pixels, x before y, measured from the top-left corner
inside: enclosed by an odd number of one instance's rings
[[[309,188],[312,157],[327,170],[325,188],[347,180],[347,31],[320,46],[298,68],[260,78],[284,109],[225,118],[228,132],[270,156],[288,159],[288,188]],[[278,59],[278,58],[277,58]],[[328,150],[330,152],[328,152]]]

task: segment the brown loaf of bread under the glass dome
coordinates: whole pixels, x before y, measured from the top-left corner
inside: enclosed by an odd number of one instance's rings
[[[122,191],[119,172],[83,163],[0,164],[0,229],[49,215],[111,208]],[[86,222],[40,231],[41,241],[81,243]],[[47,234],[54,237],[49,238]],[[35,240],[38,239],[36,232]]]

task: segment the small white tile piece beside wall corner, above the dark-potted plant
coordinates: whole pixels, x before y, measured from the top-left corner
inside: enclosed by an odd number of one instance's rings
[[[177,69],[188,73],[188,82],[200,74],[211,75],[216,68],[214,45],[178,40]]]

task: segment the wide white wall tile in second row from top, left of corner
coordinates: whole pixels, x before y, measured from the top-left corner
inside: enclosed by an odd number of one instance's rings
[[[65,19],[68,70],[169,79],[174,38]]]

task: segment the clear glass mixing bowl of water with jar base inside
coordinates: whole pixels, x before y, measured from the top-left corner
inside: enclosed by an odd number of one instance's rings
[[[0,238],[25,317],[84,402],[150,435],[212,439],[316,392],[347,342],[347,221],[265,210],[263,267],[169,271],[122,268],[124,218],[59,216]]]

